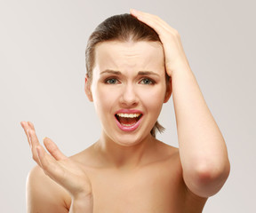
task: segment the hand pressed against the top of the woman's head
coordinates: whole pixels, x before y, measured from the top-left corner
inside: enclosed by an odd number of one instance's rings
[[[150,28],[153,28],[160,37],[164,47],[166,72],[169,76],[172,76],[173,72],[180,69],[180,67],[189,67],[188,59],[180,41],[180,34],[176,29],[156,15],[134,9],[131,9],[131,14]]]

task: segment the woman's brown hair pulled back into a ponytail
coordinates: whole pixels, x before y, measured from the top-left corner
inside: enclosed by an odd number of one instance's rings
[[[94,52],[97,43],[107,41],[121,41],[121,42],[159,42],[160,38],[153,28],[137,20],[130,14],[121,14],[109,17],[95,28],[92,35],[89,37],[86,50],[85,62],[87,69],[87,76],[89,83],[92,82],[92,69],[94,67]],[[169,82],[169,76],[165,75],[166,83]],[[151,135],[156,138],[156,131],[160,133],[164,131],[164,127],[156,121],[153,129],[150,131]]]

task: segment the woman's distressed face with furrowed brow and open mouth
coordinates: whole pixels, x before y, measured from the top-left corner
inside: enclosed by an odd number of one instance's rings
[[[85,91],[100,117],[103,137],[132,146],[150,137],[166,91],[164,51],[156,42],[104,42],[95,49]],[[85,83],[85,84],[86,84]]]

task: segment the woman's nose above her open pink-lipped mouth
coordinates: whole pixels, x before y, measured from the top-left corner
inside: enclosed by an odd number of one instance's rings
[[[121,97],[120,104],[125,107],[137,106],[139,103],[139,98],[137,96],[134,85],[126,84],[124,85]]]

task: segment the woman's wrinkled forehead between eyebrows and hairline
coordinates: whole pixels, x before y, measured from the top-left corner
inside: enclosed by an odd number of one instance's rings
[[[95,49],[95,67],[99,71],[157,71],[164,68],[163,46],[161,43],[148,41],[98,43]]]

